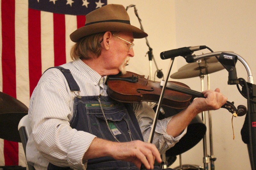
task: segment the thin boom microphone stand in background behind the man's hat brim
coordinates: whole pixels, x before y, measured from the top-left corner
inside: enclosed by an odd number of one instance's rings
[[[140,17],[139,17],[139,15],[138,15],[138,10],[137,10],[137,8],[136,8],[136,6],[135,5],[129,5],[129,6],[127,6],[126,7],[126,11],[130,8],[130,7],[134,7],[134,12],[135,12],[135,15],[137,16],[137,18],[139,19],[139,22],[140,22],[140,29],[142,30],[142,31],[144,31],[144,29],[143,29],[143,26],[142,26],[142,24],[141,24],[141,19],[140,19]],[[157,65],[156,65],[156,60],[155,60],[155,58],[154,58],[154,55],[153,55],[153,49],[149,46],[149,43],[148,43],[148,38],[147,37],[145,37],[145,39],[146,39],[146,44],[147,44],[147,46],[148,46],[148,48],[149,48],[149,51],[147,52],[147,54],[148,54],[148,60],[149,61],[152,61],[152,59],[153,59],[153,61],[154,61],[154,63],[155,63],[155,66],[156,66],[156,70],[157,70],[157,77],[158,78],[162,78],[163,76],[164,76],[164,74],[163,74],[163,72],[161,71],[161,70],[159,70],[158,69],[158,67],[157,67]],[[150,74],[151,74],[151,70],[152,70],[152,68],[151,68],[151,64],[150,64]],[[150,75],[150,77],[152,77],[152,75]]]

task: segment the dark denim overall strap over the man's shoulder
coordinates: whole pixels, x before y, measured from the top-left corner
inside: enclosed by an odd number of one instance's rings
[[[79,86],[77,85],[76,83],[76,80],[74,79],[74,77],[72,76],[70,70],[68,69],[64,69],[63,67],[60,67],[60,66],[56,66],[56,67],[50,67],[49,69],[52,69],[52,68],[56,68],[56,69],[59,69],[63,75],[65,76],[66,80],[68,81],[68,86],[69,86],[69,89],[70,91],[80,91],[80,88]],[[48,70],[48,69],[47,69]],[[46,71],[46,70],[45,70]],[[44,72],[45,72],[44,71]],[[43,73],[44,74],[44,73]]]

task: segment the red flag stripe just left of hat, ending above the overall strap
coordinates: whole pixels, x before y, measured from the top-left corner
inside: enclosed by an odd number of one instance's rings
[[[65,15],[53,13],[54,66],[66,63]]]

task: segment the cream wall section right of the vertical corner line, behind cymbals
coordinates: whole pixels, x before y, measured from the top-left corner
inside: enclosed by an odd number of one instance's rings
[[[256,1],[175,1],[177,48],[206,45],[213,51],[234,51],[242,56],[252,69],[255,59],[255,26]],[[210,51],[197,51],[200,55]],[[187,64],[184,59],[177,58],[178,68]],[[247,72],[241,62],[236,64],[237,77],[247,80]],[[192,89],[200,91],[200,78],[180,80]],[[235,106],[246,105],[235,85],[228,85],[228,72],[221,70],[210,74],[211,89],[219,87],[221,92],[234,101]],[[207,77],[204,78],[207,88]],[[234,119],[235,140],[233,140],[231,114],[225,109],[212,113],[213,152],[217,160],[216,169],[251,169],[246,145],[241,140],[240,130],[244,117]],[[208,121],[207,121],[208,122]],[[209,139],[209,136],[208,136]],[[208,143],[208,154],[210,154]],[[197,156],[195,156],[197,155]],[[202,144],[182,155],[183,163],[202,162]]]

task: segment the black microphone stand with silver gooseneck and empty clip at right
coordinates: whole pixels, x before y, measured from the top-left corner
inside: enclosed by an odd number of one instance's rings
[[[225,58],[230,57],[230,58]],[[238,54],[234,52],[229,51],[219,51],[219,52],[213,52],[213,53],[207,53],[203,55],[192,55],[189,56],[186,59],[188,63],[195,62],[197,60],[201,60],[207,57],[211,56],[217,56],[220,55],[219,61],[221,58],[220,63],[225,67],[226,70],[228,70],[228,84],[229,85],[238,85],[239,80],[242,78],[237,79],[236,77],[236,61],[237,59],[243,63],[247,75],[248,75],[248,82],[244,83],[244,86],[242,87],[241,94],[247,99],[247,117],[248,117],[248,135],[249,135],[249,143],[247,144],[249,157],[250,157],[250,163],[252,170],[255,170],[256,167],[256,85],[253,84],[253,77],[252,77],[252,71],[248,63]],[[233,63],[232,63],[233,62]],[[244,80],[245,81],[245,80]],[[245,120],[246,123],[246,120]]]

